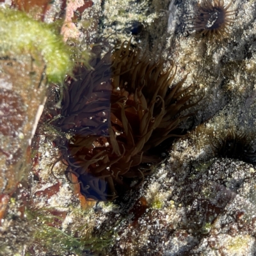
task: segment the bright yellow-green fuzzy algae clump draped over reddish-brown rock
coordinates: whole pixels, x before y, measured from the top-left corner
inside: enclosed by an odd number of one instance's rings
[[[52,26],[29,18],[18,10],[0,8],[1,56],[30,54],[35,61],[42,56],[50,82],[62,81],[72,70],[70,50]]]

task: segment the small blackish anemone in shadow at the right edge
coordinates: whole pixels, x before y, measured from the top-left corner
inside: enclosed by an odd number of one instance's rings
[[[228,130],[226,134],[212,141],[211,148],[216,156],[256,163],[256,152],[250,138],[250,135],[244,132]]]

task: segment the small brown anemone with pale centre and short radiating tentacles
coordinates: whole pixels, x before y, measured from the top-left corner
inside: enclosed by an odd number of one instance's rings
[[[195,15],[196,31],[210,40],[222,40],[228,36],[228,27],[234,23],[235,10],[229,10],[223,0],[202,0]]]

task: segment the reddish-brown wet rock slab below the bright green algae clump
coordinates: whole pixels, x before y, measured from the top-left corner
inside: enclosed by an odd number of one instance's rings
[[[0,60],[0,191],[3,194],[13,192],[28,167],[36,115],[45,97],[44,68],[44,61],[33,61],[29,55]]]

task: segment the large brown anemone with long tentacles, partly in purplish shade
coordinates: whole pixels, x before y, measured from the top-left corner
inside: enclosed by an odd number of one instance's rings
[[[54,125],[74,134],[62,153],[67,173],[81,182],[81,193],[113,200],[161,161],[150,150],[180,136],[173,131],[189,116],[180,114],[200,99],[190,102],[196,86],[182,90],[186,77],[170,88],[175,65],[164,72],[163,60],[150,60],[129,42],[103,58],[97,49],[93,70],[82,68],[68,81],[62,117]]]

